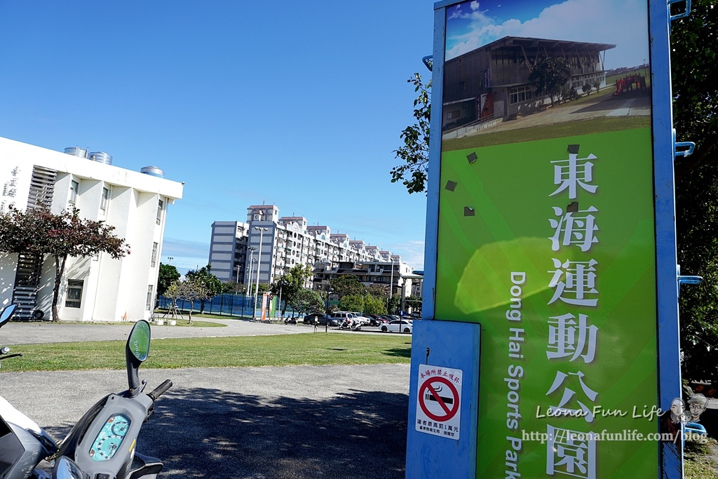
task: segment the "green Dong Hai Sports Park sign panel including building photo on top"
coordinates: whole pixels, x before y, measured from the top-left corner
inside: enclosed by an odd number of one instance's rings
[[[446,18],[434,316],[481,325],[477,477],[656,477],[648,4]]]

